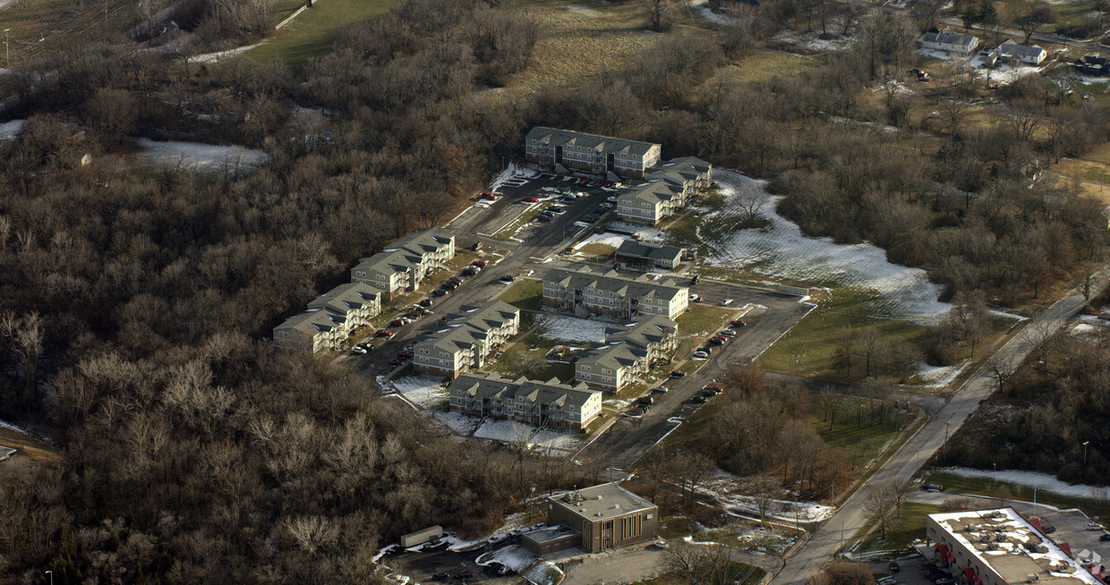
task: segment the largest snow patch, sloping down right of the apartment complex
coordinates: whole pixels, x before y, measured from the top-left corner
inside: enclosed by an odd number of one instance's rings
[[[764,189],[761,181],[730,170],[714,169],[713,179],[725,196],[725,210],[731,206],[728,200],[738,196],[741,189]],[[937,300],[941,289],[929,282],[924,270],[887,262],[880,248],[803,235],[796,223],[776,211],[780,199],[768,196],[759,209],[770,221],[767,229],[735,231],[720,241],[709,241],[699,230],[706,263],[856,290],[870,297],[860,303],[860,310],[875,316],[934,322],[951,309]],[[709,219],[726,212],[715,212]]]

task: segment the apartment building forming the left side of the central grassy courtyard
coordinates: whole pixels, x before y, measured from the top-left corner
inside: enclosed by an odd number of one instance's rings
[[[501,301],[463,305],[440,324],[441,329],[418,337],[413,345],[413,370],[455,379],[485,365],[490,353],[516,334],[521,310]]]

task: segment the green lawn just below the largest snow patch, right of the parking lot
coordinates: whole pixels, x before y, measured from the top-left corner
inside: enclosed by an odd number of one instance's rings
[[[759,356],[759,364],[771,372],[785,372],[826,380],[845,380],[833,370],[833,353],[837,343],[850,329],[876,327],[882,333],[884,344],[901,342],[918,344],[926,327],[909,321],[878,319],[860,310],[859,305],[871,299],[860,291],[833,289],[828,299],[806,315],[783,339]],[[848,380],[865,377],[864,366],[852,367]]]

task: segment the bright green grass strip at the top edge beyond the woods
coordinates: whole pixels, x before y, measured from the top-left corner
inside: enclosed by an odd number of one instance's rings
[[[320,0],[246,54],[255,61],[281,59],[289,64],[302,64],[331,51],[343,28],[384,14],[397,3],[397,0]],[[289,10],[285,4],[282,8]],[[286,10],[280,12],[281,18],[287,16]]]

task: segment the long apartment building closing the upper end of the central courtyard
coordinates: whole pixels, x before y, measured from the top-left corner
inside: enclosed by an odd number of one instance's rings
[[[627,279],[615,271],[597,274],[563,269],[553,269],[544,276],[544,304],[579,313],[628,320],[644,315],[675,319],[688,303],[689,289],[670,279]]]

